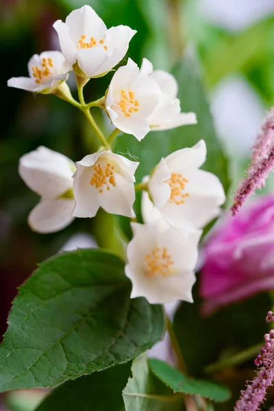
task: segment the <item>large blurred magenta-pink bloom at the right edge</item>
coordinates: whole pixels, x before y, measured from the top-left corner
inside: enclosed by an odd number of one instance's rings
[[[203,314],[274,290],[274,195],[258,197],[227,216],[204,247],[200,295]]]

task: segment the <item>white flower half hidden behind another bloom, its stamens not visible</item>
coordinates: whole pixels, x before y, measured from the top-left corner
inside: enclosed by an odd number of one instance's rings
[[[154,79],[161,90],[158,105],[147,118],[151,131],[167,130],[181,125],[197,124],[195,113],[181,112],[179,99],[176,98],[178,84],[173,75],[162,70],[153,71],[151,62],[144,58],[140,68],[140,76],[149,76],[149,78]]]

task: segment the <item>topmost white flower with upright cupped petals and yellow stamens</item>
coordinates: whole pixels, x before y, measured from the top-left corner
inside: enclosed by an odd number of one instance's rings
[[[60,47],[71,68],[77,61],[86,77],[98,77],[110,71],[127,53],[136,30],[119,25],[107,29],[89,6],[73,10],[66,23],[55,21]]]

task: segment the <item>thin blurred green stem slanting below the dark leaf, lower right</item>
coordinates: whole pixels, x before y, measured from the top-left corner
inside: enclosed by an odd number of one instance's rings
[[[242,364],[243,362],[256,357],[263,345],[264,343],[253,345],[252,347],[249,347],[248,349],[245,349],[244,351],[241,351],[234,356],[224,358],[223,360],[220,360],[218,362],[214,362],[213,364],[206,366],[205,371],[206,373],[214,373],[215,371],[219,371],[227,366]]]

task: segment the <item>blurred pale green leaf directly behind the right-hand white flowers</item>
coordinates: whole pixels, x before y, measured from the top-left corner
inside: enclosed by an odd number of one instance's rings
[[[175,68],[173,75],[179,84],[178,98],[181,101],[182,112],[195,112],[198,124],[185,125],[165,132],[150,132],[140,142],[126,134],[119,136],[116,152],[125,153],[129,155],[129,158],[138,158],[140,165],[136,171],[136,180],[140,182],[162,157],[166,157],[175,150],[192,147],[203,139],[208,147],[207,160],[203,169],[216,174],[227,191],[229,187],[227,159],[216,137],[196,60],[187,55]]]

